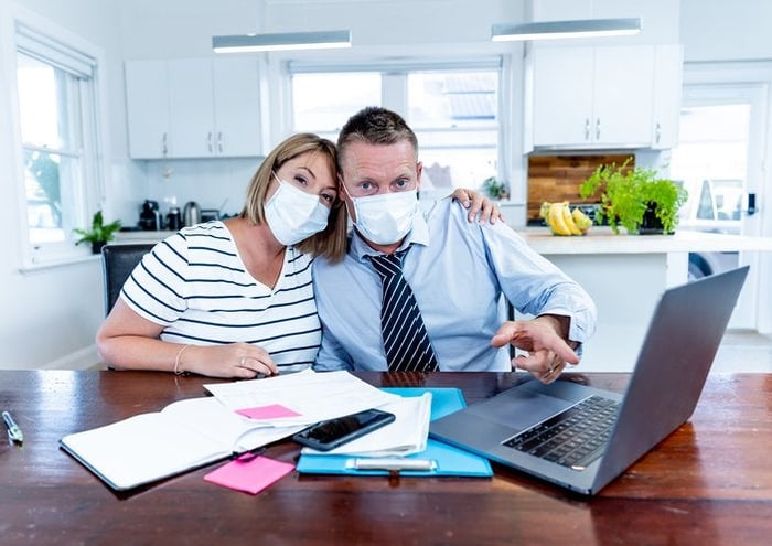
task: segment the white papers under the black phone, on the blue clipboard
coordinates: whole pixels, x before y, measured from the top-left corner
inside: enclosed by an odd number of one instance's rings
[[[399,397],[378,409],[394,414],[396,419],[372,432],[331,449],[318,451],[303,448],[303,453],[349,454],[352,457],[405,457],[426,450],[429,437],[431,393]]]

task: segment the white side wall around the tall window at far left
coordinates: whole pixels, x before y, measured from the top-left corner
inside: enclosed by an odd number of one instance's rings
[[[122,93],[122,83],[114,77],[120,63],[120,43],[111,29],[119,25],[111,3],[99,0],[68,2],[20,2],[33,11],[46,11],[50,20],[107,52],[103,66],[109,101]],[[93,352],[94,333],[103,317],[100,270],[97,261],[86,261],[34,272],[19,270],[20,207],[23,200],[17,180],[21,176],[20,142],[14,131],[15,101],[11,92],[15,51],[13,47],[13,6],[0,0],[0,202],[7,212],[0,247],[0,301],[3,304],[0,328],[0,368],[66,366]],[[122,114],[122,113],[121,113]],[[115,122],[122,125],[121,116]],[[124,161],[125,144],[108,129],[108,164]],[[116,148],[112,148],[115,146]],[[116,154],[117,150],[117,154]]]

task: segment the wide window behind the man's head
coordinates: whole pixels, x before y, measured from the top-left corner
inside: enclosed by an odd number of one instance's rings
[[[331,140],[365,106],[401,114],[416,131],[421,193],[479,188],[498,173],[500,60],[442,66],[303,66],[290,63],[294,131]]]

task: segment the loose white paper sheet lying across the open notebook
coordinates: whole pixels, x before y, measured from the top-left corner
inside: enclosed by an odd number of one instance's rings
[[[204,385],[233,410],[279,405],[293,416],[262,418],[264,425],[311,425],[325,419],[380,407],[400,398],[353,376],[346,371],[313,372]]]

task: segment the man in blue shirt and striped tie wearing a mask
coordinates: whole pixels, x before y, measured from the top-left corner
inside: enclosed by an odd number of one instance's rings
[[[579,362],[596,325],[587,292],[504,224],[469,224],[450,200],[421,210],[418,142],[401,117],[361,110],[337,153],[354,229],[342,263],[314,263],[314,370],[518,367],[550,383]],[[504,322],[502,296],[534,318]],[[510,361],[510,343],[527,353]]]

